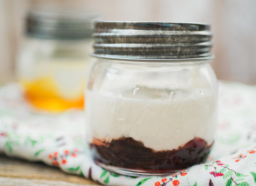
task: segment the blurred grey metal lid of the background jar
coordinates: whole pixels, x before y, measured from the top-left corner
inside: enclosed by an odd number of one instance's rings
[[[26,34],[43,39],[84,39],[93,33],[97,13],[60,7],[36,7],[26,17]]]

